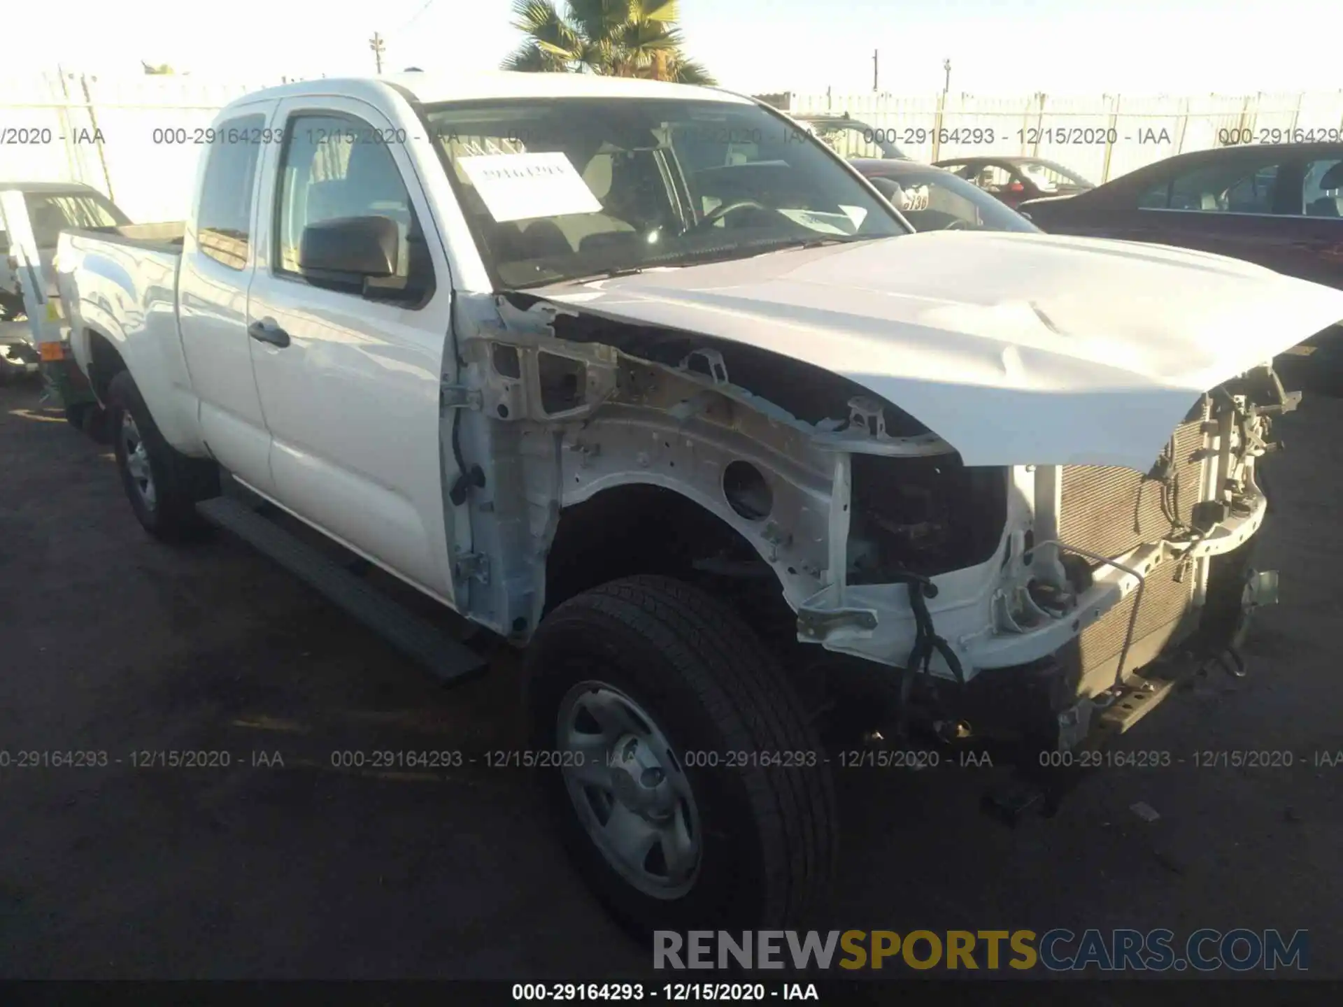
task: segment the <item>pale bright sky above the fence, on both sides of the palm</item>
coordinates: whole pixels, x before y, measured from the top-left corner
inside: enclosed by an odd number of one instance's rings
[[[1336,0],[1334,0],[1336,1]],[[563,4],[563,0],[560,0]],[[1331,0],[681,0],[690,55],[732,90],[1248,94],[1343,89]],[[510,0],[62,0],[7,5],[0,79],[34,70],[197,78],[497,68]],[[54,16],[52,11],[58,11]],[[0,97],[3,101],[3,97]]]

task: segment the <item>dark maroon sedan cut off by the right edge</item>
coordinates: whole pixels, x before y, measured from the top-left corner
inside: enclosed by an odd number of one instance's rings
[[[1232,255],[1343,289],[1343,144],[1198,150],[1018,208],[1050,234]],[[1312,357],[1309,365],[1304,357]],[[1279,369],[1309,391],[1338,393],[1343,333],[1335,328],[1307,340]]]

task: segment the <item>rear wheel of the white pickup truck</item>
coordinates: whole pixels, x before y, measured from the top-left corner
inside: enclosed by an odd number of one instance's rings
[[[106,420],[121,485],[141,526],[169,542],[201,537],[210,526],[196,502],[219,495],[215,463],[188,458],[164,440],[129,371],[107,385]]]

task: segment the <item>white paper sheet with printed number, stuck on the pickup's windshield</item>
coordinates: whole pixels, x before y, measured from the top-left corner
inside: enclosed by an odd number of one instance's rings
[[[500,223],[596,213],[602,204],[561,150],[481,154],[457,161]]]

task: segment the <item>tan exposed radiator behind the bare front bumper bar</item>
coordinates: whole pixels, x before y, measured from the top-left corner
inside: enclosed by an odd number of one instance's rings
[[[1069,545],[1115,559],[1144,542],[1170,537],[1179,524],[1187,526],[1209,463],[1203,457],[1207,408],[1205,399],[1202,411],[1176,427],[1164,486],[1133,469],[1064,466],[1058,537]],[[1182,565],[1183,573],[1179,572]],[[1194,583],[1194,569],[1179,563],[1158,567],[1147,576],[1143,606],[1133,627],[1135,644],[1166,630],[1189,611]],[[1136,600],[1135,591],[1082,631],[1084,674],[1119,657]],[[1125,662],[1125,670],[1132,670],[1132,665]]]

